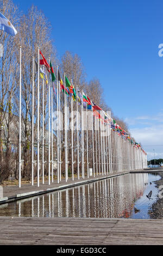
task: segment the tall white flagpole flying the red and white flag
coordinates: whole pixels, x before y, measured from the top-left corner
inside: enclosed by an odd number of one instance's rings
[[[40,47],[38,48],[38,79],[37,79],[37,187],[40,186]]]

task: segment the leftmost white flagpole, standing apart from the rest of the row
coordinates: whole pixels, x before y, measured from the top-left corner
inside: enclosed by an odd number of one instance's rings
[[[22,47],[20,46],[20,102],[19,102],[19,171],[18,186],[21,187],[21,107],[22,107]]]

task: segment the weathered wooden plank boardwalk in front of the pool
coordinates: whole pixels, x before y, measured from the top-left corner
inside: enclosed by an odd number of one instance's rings
[[[163,220],[0,217],[0,245],[162,245]]]

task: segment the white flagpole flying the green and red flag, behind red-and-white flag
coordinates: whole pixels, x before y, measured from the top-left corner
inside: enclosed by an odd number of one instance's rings
[[[49,59],[50,62],[50,59]],[[51,89],[48,83],[48,184],[51,185]]]

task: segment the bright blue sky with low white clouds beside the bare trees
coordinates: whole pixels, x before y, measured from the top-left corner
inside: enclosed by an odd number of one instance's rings
[[[58,56],[77,53],[87,80],[98,77],[105,100],[127,121],[148,159],[163,158],[163,2],[14,0],[42,9],[52,23]]]

